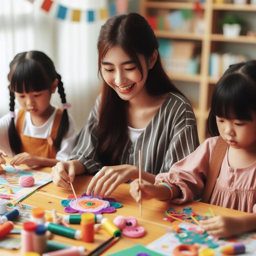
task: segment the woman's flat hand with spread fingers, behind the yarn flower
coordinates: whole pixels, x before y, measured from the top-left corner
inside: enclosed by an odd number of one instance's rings
[[[139,169],[129,164],[104,166],[92,178],[86,194],[91,195],[94,189],[93,196],[99,194],[99,198],[108,197],[120,184],[131,180],[138,174]]]

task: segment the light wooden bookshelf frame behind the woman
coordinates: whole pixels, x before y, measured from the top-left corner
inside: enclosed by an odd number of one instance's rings
[[[196,104],[193,104],[193,101],[190,99],[189,85],[185,86],[187,89],[185,89],[185,91],[182,90],[182,92],[191,100],[197,119],[200,143],[202,143],[210,136],[207,133],[206,120],[211,103],[211,94],[219,79],[219,77],[212,77],[209,74],[211,54],[221,51],[222,49],[224,49],[224,51],[228,49],[231,53],[233,53],[232,51],[235,53],[239,53],[240,51],[242,54],[246,52],[246,48],[249,48],[248,55],[253,55],[251,52],[256,52],[256,36],[246,36],[246,33],[243,31],[243,33],[241,33],[242,35],[236,38],[227,38],[222,34],[219,20],[226,12],[235,12],[238,15],[241,14],[246,17],[248,13],[256,11],[256,5],[217,4],[214,3],[214,0],[205,0],[204,3],[200,4],[200,8],[203,12],[205,24],[204,33],[195,34],[193,32],[170,31],[166,29],[154,29],[154,31],[157,38],[199,42],[201,45],[200,69],[198,74],[178,74],[176,72],[169,72],[168,75],[178,88],[180,83],[184,85],[193,83],[198,87],[198,99]],[[193,11],[195,9],[195,3],[189,0],[140,0],[140,13],[146,19],[158,10],[173,11],[182,9]],[[250,27],[250,29],[252,29],[252,27]],[[253,29],[256,31],[256,27]],[[251,56],[251,58],[256,58],[256,56]]]

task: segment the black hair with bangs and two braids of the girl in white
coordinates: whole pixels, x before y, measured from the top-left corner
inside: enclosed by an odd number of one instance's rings
[[[60,94],[61,102],[66,103],[61,76],[56,72],[52,60],[43,52],[38,51],[17,54],[10,63],[10,73],[8,74],[8,80],[10,81],[10,111],[14,111],[14,92],[29,93],[51,90],[56,78],[58,79],[58,93]],[[57,136],[54,140],[56,151],[60,149],[61,141],[67,134],[68,129],[69,120],[67,110],[65,109],[63,110]],[[21,153],[21,140],[16,130],[14,117],[11,118],[8,135],[11,150],[15,154]]]

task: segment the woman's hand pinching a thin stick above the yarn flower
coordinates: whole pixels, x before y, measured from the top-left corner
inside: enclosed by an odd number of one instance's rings
[[[70,182],[74,181],[76,173],[79,174],[82,171],[85,172],[85,167],[77,160],[58,162],[52,167],[52,181],[56,186],[71,189]]]

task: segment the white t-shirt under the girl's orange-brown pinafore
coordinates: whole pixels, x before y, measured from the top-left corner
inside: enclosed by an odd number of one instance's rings
[[[52,125],[54,122],[57,109],[58,108],[55,107],[55,110],[52,113],[52,115],[42,126],[34,126],[31,121],[30,113],[26,112],[25,119],[24,119],[23,134],[29,137],[35,137],[35,138],[41,138],[41,139],[46,139],[47,137],[49,137],[51,135]],[[19,109],[16,109],[15,119],[14,119],[15,124],[17,121],[18,112],[19,112]],[[74,119],[71,115],[68,115],[68,118],[69,118],[69,130],[67,132],[67,135],[61,141],[61,149],[56,154],[56,159],[59,161],[66,161],[67,158],[70,156],[70,153],[74,147],[74,143],[77,136],[76,124],[74,122]],[[9,113],[7,115],[4,115],[0,119],[0,149],[4,150],[4,152],[7,153],[9,157],[13,157],[14,154],[11,151],[11,147],[9,144],[9,137],[8,137],[8,128],[9,128],[10,121],[11,121],[11,117]]]

